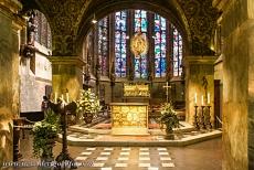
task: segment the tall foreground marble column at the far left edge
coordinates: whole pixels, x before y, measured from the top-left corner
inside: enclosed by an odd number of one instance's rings
[[[20,30],[25,25],[18,11],[18,0],[0,1],[0,169],[4,161],[12,161],[12,119],[19,116]]]

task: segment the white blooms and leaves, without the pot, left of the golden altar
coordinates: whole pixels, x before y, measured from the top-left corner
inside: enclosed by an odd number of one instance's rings
[[[99,99],[91,89],[81,91],[81,97],[77,100],[78,113],[97,114],[100,110]]]

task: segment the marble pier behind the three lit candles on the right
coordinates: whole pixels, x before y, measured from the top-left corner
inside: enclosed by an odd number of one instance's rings
[[[214,126],[213,96],[214,96],[214,70],[215,56],[187,56],[186,63],[186,121],[193,125],[194,120],[194,96],[197,93],[197,105],[208,104],[210,94],[211,123]],[[204,78],[207,82],[204,83]],[[205,94],[207,91],[207,94]],[[199,107],[199,111],[201,108]]]

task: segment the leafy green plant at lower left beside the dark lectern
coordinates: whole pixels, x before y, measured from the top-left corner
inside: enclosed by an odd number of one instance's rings
[[[34,124],[32,129],[33,135],[33,155],[42,157],[47,155],[52,142],[54,142],[60,131],[60,116],[53,110],[45,111],[45,119]]]

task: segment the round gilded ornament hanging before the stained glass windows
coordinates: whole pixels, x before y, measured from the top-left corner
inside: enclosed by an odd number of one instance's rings
[[[146,35],[140,32],[136,33],[134,38],[130,40],[130,50],[135,56],[147,54],[148,41]]]

